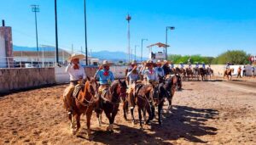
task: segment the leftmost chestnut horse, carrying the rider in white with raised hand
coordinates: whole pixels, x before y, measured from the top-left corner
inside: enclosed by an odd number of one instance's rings
[[[94,79],[87,77],[84,88],[79,92],[78,98],[67,99],[67,96],[63,96],[64,106],[66,109],[71,104],[73,106],[73,112],[69,115],[71,121],[71,129],[75,135],[80,128],[80,116],[81,114],[86,115],[87,125],[87,136],[90,137],[90,118],[95,105],[95,98],[98,97],[97,84]],[[73,102],[70,102],[72,101]],[[76,126],[75,126],[76,125]]]

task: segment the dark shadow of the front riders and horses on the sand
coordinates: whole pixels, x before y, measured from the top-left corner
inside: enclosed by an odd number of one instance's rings
[[[175,142],[177,139],[183,139],[188,142],[207,143],[199,137],[217,134],[218,129],[207,126],[205,122],[214,120],[218,116],[218,110],[174,106],[172,114],[163,115],[162,126],[158,125],[156,120],[152,122],[150,130],[141,130],[127,125],[115,125],[115,132],[112,133],[94,131],[93,141],[104,144],[170,144],[170,141]],[[80,137],[85,138],[85,134]]]

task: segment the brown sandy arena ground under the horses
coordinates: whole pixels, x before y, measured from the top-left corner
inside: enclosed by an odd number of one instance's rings
[[[163,125],[154,120],[144,130],[125,121],[121,108],[113,133],[105,115],[99,127],[93,114],[92,141],[84,116],[79,134],[70,133],[60,99],[67,85],[17,92],[0,100],[0,144],[256,144],[256,86],[248,83],[185,81]]]

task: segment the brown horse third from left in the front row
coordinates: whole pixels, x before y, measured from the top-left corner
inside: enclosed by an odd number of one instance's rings
[[[136,87],[136,90],[133,90],[133,92],[128,93],[128,100],[131,103],[131,119],[132,119],[132,124],[135,124],[135,119],[134,119],[134,108],[135,105],[137,105],[138,109],[138,115],[139,115],[139,121],[140,121],[140,127],[143,129],[143,123],[142,123],[142,118],[145,120],[145,124],[148,124],[150,120],[154,119],[154,114],[152,114],[152,106],[151,106],[151,101],[152,101],[152,92],[153,92],[153,86],[150,84],[143,84],[143,83],[138,83],[134,84]],[[146,111],[148,112],[148,120],[146,120]],[[143,112],[143,116],[142,116]]]

